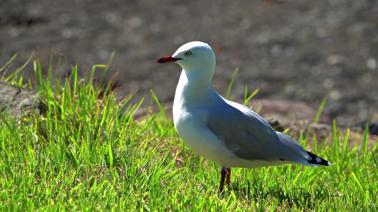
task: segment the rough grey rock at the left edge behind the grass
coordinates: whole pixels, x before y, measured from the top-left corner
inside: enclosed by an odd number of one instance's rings
[[[39,114],[42,109],[42,103],[36,94],[9,82],[0,81],[0,111],[6,119],[9,112],[12,117],[20,117],[30,111]]]

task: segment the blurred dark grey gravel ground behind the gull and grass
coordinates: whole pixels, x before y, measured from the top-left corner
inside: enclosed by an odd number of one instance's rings
[[[152,88],[173,100],[181,69],[156,60],[198,40],[217,56],[220,94],[239,66],[235,98],[245,84],[260,88],[257,98],[315,107],[328,95],[326,109],[339,123],[378,107],[377,0],[2,0],[0,38],[0,66],[19,52],[8,72],[36,49],[45,67],[51,52],[62,53],[84,76],[116,50],[107,80],[119,70],[119,94],[138,87],[139,99]],[[33,78],[32,68],[23,74]]]

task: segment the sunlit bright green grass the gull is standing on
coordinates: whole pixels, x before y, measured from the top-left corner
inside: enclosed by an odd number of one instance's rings
[[[378,144],[367,145],[367,131],[355,146],[336,123],[336,142],[307,133],[299,142],[332,167],[233,168],[219,194],[220,167],[184,146],[164,110],[136,121],[133,94],[97,99],[93,75],[108,64],[84,81],[74,66],[56,86],[40,67],[34,61],[45,112],[0,118],[0,211],[376,211]],[[7,80],[31,88],[17,73]]]

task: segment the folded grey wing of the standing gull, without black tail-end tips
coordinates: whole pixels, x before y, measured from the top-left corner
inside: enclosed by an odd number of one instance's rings
[[[225,103],[222,107],[209,110],[207,127],[237,157],[266,161],[299,161],[309,157],[293,139],[280,139],[274,129],[253,110],[231,101],[225,100]]]

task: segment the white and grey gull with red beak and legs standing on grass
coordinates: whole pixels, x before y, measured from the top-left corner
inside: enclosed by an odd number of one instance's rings
[[[222,167],[220,193],[225,178],[229,186],[231,167],[332,166],[293,138],[274,131],[252,109],[219,95],[211,83],[215,54],[207,43],[186,43],[157,61],[169,62],[183,69],[173,103],[176,131],[192,151]]]

